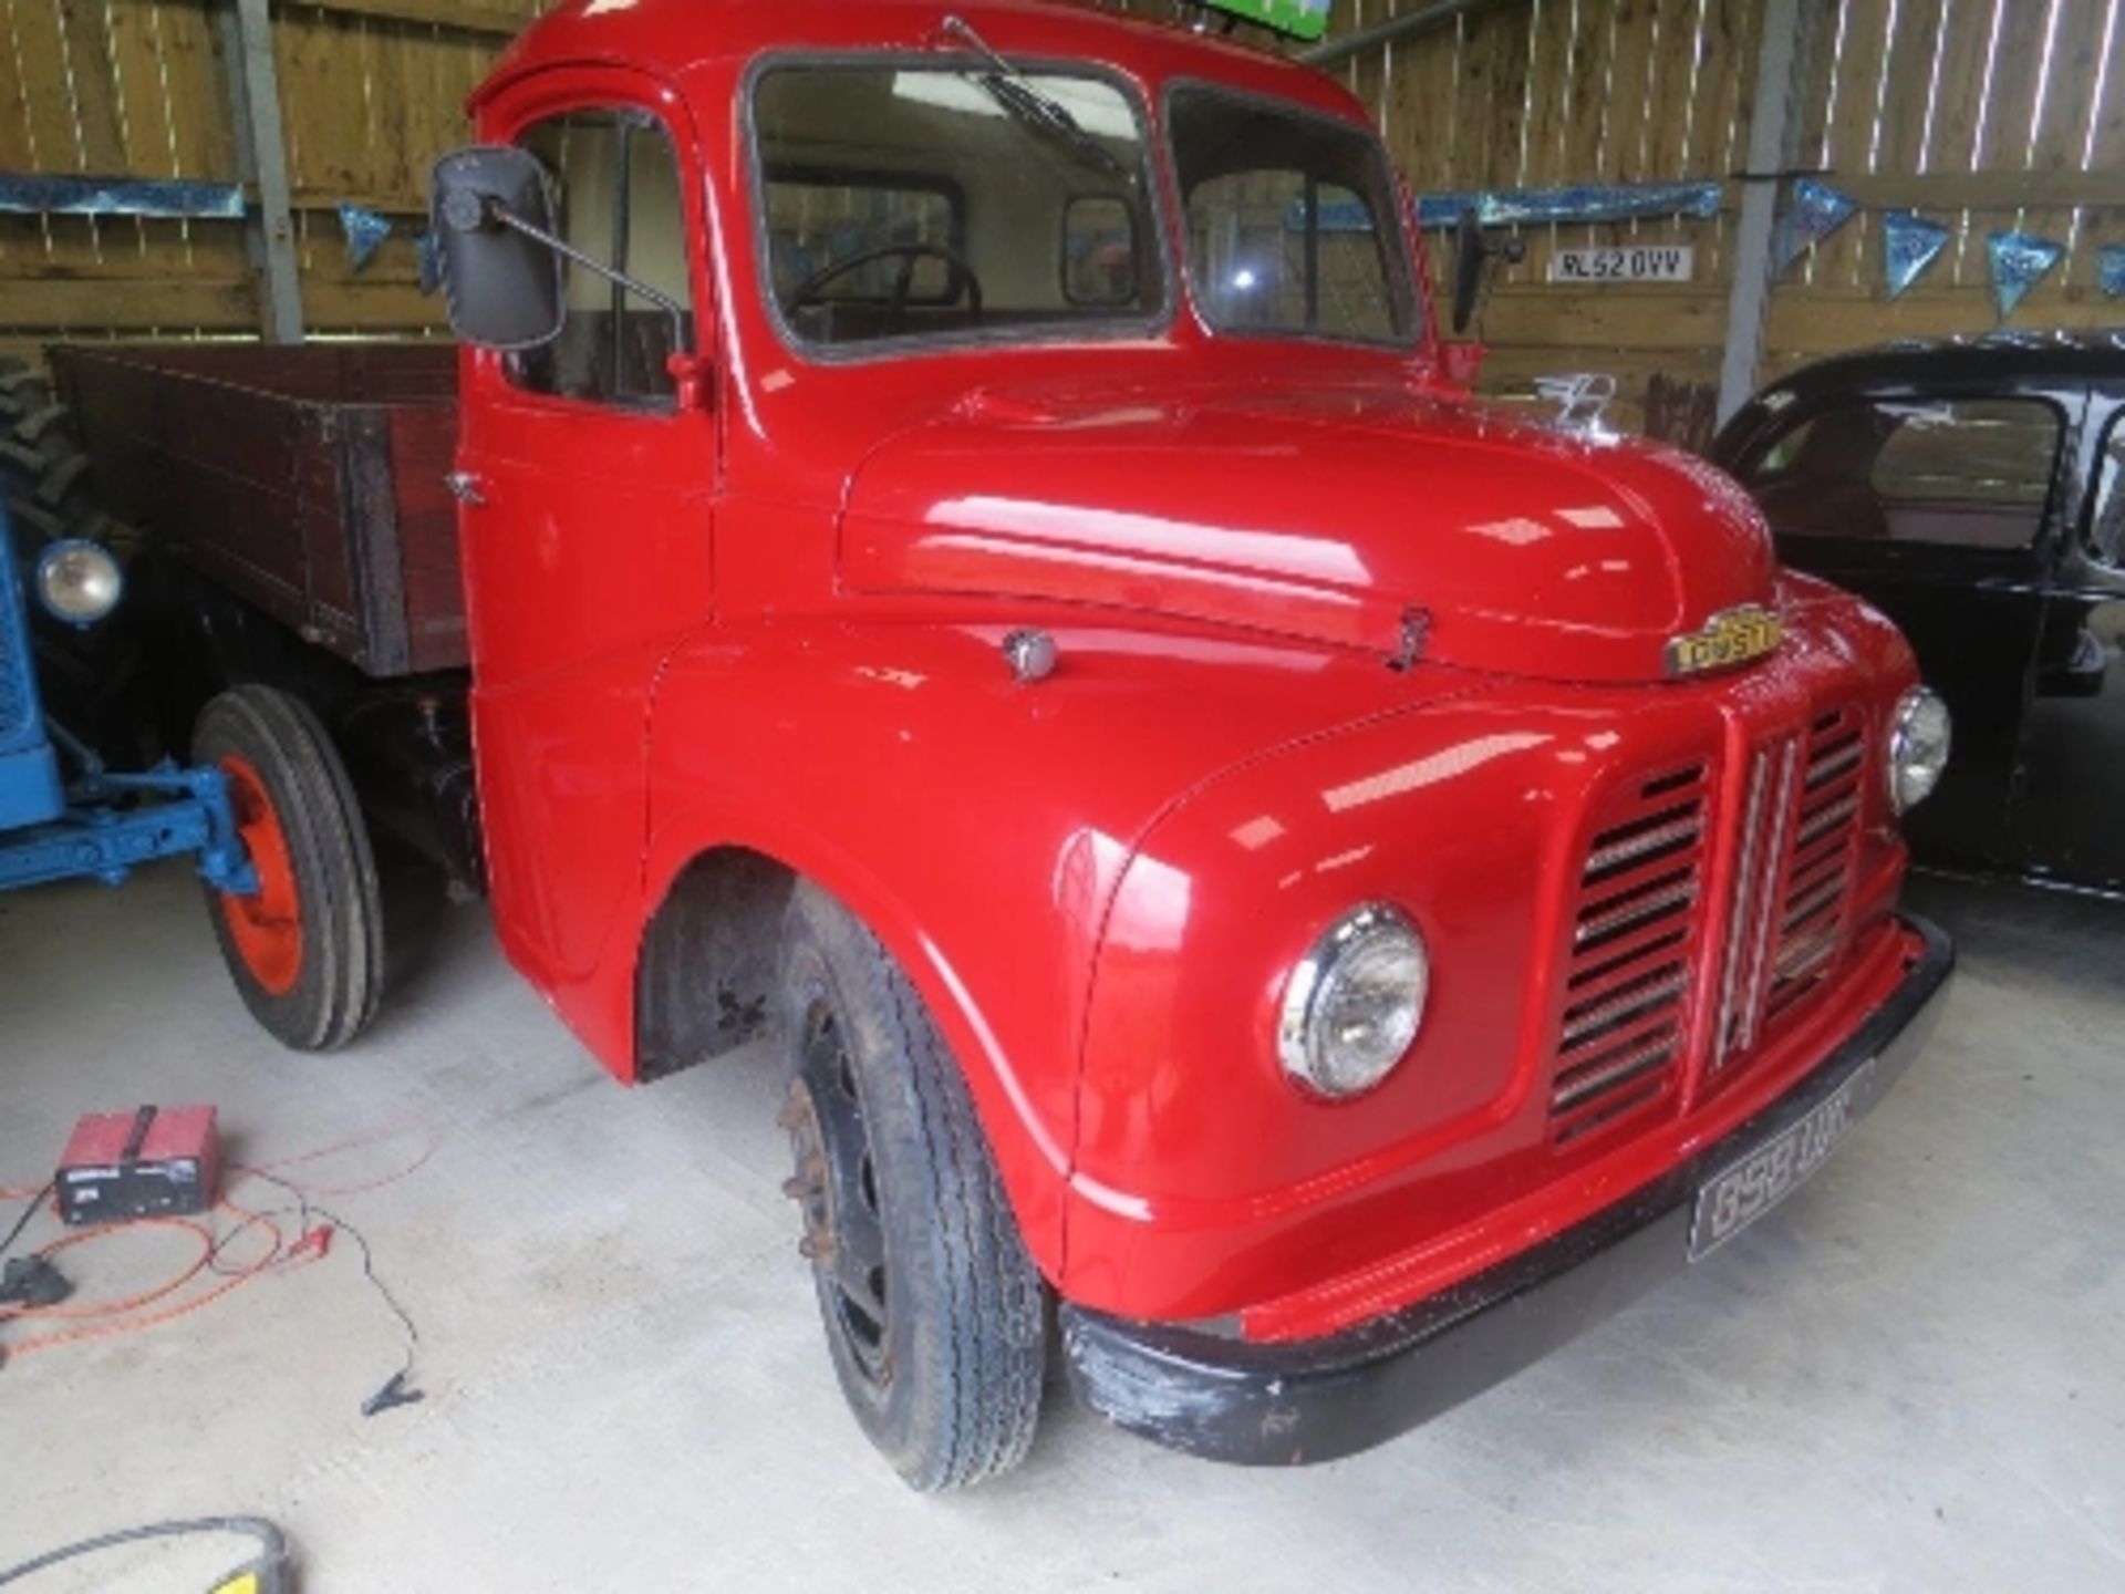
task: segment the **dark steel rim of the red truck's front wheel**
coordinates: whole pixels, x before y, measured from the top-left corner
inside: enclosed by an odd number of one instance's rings
[[[803,1211],[799,1252],[818,1279],[831,1333],[873,1388],[892,1381],[892,1292],[869,1118],[848,1027],[820,995],[803,1016],[797,1080],[784,1109]]]

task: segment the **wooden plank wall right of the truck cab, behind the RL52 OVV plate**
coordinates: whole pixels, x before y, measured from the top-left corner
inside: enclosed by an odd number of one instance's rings
[[[1424,0],[1341,0],[1330,36]],[[1878,210],[1776,285],[1772,376],[1896,336],[1998,325],[1983,234],[2070,244],[2014,327],[2125,325],[2095,251],[2125,242],[2125,0],[1802,0],[1815,11],[1796,102],[1796,166],[1870,206],[1959,230],[1949,257],[1889,302]],[[1496,0],[1339,68],[1375,108],[1420,191],[1730,179],[1747,151],[1762,0]],[[1545,372],[1613,372],[1626,421],[1702,425],[1717,387],[1740,185],[1708,221],[1530,227],[1479,336],[1485,387],[1522,397]],[[1696,247],[1687,285],[1549,285],[1560,244]],[[1445,266],[1434,238],[1434,270]],[[1445,281],[1445,272],[1439,270]],[[1694,400],[1694,404],[1692,404]],[[1681,406],[1681,414],[1677,414]]]

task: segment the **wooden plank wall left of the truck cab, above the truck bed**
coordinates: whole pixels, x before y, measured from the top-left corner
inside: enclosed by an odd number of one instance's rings
[[[210,6],[0,0],[0,170],[234,183]],[[536,0],[327,0],[274,9],[289,181],[312,334],[431,334],[416,291],[429,162]],[[334,206],[395,223],[359,274]],[[0,215],[0,353],[51,338],[251,336],[242,223]]]

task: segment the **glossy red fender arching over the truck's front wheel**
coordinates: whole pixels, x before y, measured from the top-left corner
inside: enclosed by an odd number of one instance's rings
[[[1092,950],[1137,840],[1218,771],[1439,684],[1082,625],[1054,629],[1052,678],[1020,684],[1007,629],[765,618],[691,642],[652,703],[644,899],[716,846],[839,897],[929,1003],[1060,1277]]]

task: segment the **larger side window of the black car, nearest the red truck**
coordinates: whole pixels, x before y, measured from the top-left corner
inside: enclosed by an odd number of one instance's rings
[[[1859,400],[1774,438],[1742,482],[1779,536],[2029,548],[2059,431],[2042,400]]]

